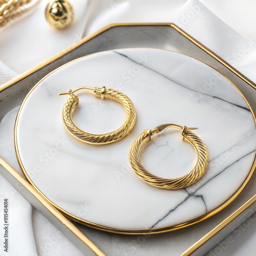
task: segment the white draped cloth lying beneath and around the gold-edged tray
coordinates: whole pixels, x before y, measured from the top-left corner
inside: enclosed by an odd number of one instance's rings
[[[0,31],[0,84],[16,77],[42,61],[69,47],[85,35],[111,23],[169,23],[173,22],[217,53],[241,73],[256,82],[256,34],[254,24],[256,3],[248,0],[73,0],[73,25],[66,30],[54,30],[44,18],[48,1],[42,0],[34,12]],[[210,12],[212,10],[214,13]],[[240,19],[238,19],[240,17]],[[223,21],[225,22],[223,22]],[[232,28],[230,28],[229,26]],[[240,33],[238,33],[238,32]],[[244,35],[242,35],[242,34]],[[247,38],[245,37],[247,36]],[[13,127],[17,108],[0,123],[0,155],[18,172],[13,146]],[[9,255],[82,255],[82,253],[35,210],[7,180],[0,175],[0,220],[4,214],[2,202],[9,200],[11,223]],[[256,238],[255,223],[251,221],[249,238],[237,239],[222,255],[252,254]],[[0,241],[4,229],[0,229]],[[246,241],[246,242],[245,242]],[[96,242],[97,244],[97,242]],[[238,244],[245,246],[237,247]],[[104,244],[105,248],[108,245]],[[178,245],[177,245],[178,246]],[[118,247],[118,245],[117,245]],[[104,251],[104,247],[101,247]],[[125,248],[124,248],[125,249]],[[108,251],[111,251],[108,248]],[[121,248],[113,255],[129,255]],[[0,255],[4,255],[0,247]],[[150,254],[145,250],[144,255]],[[210,254],[209,254],[210,255]],[[214,254],[212,254],[214,255]]]

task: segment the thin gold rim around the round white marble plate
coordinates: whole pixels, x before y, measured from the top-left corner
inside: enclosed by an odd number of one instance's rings
[[[89,55],[94,55],[94,54],[97,54],[97,53],[92,53],[92,54],[88,54],[86,56],[83,56],[83,57],[80,57],[80,58],[85,58]],[[182,53],[181,53],[182,54]],[[186,54],[183,54],[183,55],[186,55]],[[189,56],[190,57],[190,56]],[[78,59],[80,59],[78,58]],[[193,58],[193,57],[192,57]],[[55,72],[56,70],[62,68],[63,66],[66,66],[68,65],[69,63],[73,62],[73,61],[76,61],[77,59],[75,60],[72,60],[68,63],[66,63],[65,65],[62,65],[61,67],[53,70],[52,72],[50,72],[47,76],[45,76],[44,78],[42,78],[32,89],[31,91],[27,94],[27,96],[25,97],[22,105],[20,106],[20,109],[19,109],[19,112],[18,112],[18,115],[17,115],[17,118],[16,118],[16,122],[15,122],[15,131],[14,131],[14,143],[15,143],[15,152],[16,152],[16,155],[17,155],[17,159],[18,159],[18,163],[20,165],[20,168],[22,169],[25,177],[27,178],[27,180],[35,187],[35,189],[42,195],[44,196],[52,205],[54,205],[63,215],[67,216],[68,218],[76,221],[76,222],[79,222],[81,224],[84,224],[84,225],[87,225],[89,227],[93,227],[93,228],[96,228],[96,229],[99,229],[99,230],[104,230],[104,231],[108,231],[108,232],[113,232],[113,233],[121,233],[121,234],[148,234],[148,233],[151,233],[151,234],[156,234],[156,233],[163,233],[163,232],[168,232],[168,231],[172,231],[172,230],[177,230],[177,229],[180,229],[180,228],[183,228],[183,227],[187,227],[187,226],[191,226],[193,224],[196,224],[198,222],[201,222],[205,219],[208,219],[209,217],[217,214],[218,212],[220,212],[222,209],[224,209],[225,207],[227,207],[234,199],[236,199],[239,194],[242,192],[242,190],[244,189],[244,187],[247,185],[247,183],[249,182],[251,176],[253,175],[253,172],[256,168],[256,156],[254,157],[254,161],[253,161],[253,164],[252,164],[252,167],[250,169],[250,172],[247,176],[247,178],[245,179],[245,181],[243,182],[243,184],[241,185],[241,187],[236,191],[236,193],[234,193],[226,202],[224,202],[222,205],[220,205],[219,207],[217,207],[216,209],[208,212],[207,214],[201,216],[201,217],[198,217],[194,220],[191,220],[191,221],[188,221],[188,222],[184,222],[184,223],[181,223],[181,224],[178,224],[178,225],[174,225],[174,226],[170,226],[170,227],[166,227],[166,228],[159,228],[159,229],[154,229],[154,230],[124,230],[124,229],[118,229],[118,228],[111,228],[111,227],[107,227],[107,226],[103,226],[103,225],[99,225],[99,224],[96,224],[96,223],[93,223],[93,222],[90,222],[90,221],[86,221],[86,220],[83,220],[77,216],[74,216],[72,214],[70,214],[69,212],[63,210],[61,207],[59,207],[58,205],[54,204],[53,202],[51,202],[39,189],[38,187],[33,183],[33,181],[30,179],[29,175],[27,174],[26,170],[25,170],[25,167],[23,166],[23,163],[22,163],[22,160],[20,159],[20,155],[19,155],[19,151],[18,151],[18,146],[17,146],[17,123],[18,123],[18,119],[19,119],[19,115],[20,115],[20,111],[23,109],[23,105],[24,103],[26,102],[27,98],[29,97],[30,93],[37,87],[37,85],[42,81],[44,80],[46,77],[48,77],[49,75],[51,75],[53,72]],[[200,60],[199,60],[200,61]],[[202,62],[202,61],[201,61]],[[204,62],[202,62],[204,63]],[[205,64],[205,63],[204,63]],[[205,64],[207,65],[207,64]],[[211,66],[207,65],[208,67],[210,67],[211,69],[215,70],[215,72],[219,73],[220,75],[222,75],[225,79],[227,79],[234,88],[236,88],[238,90],[238,92],[242,95],[242,97],[244,98],[244,100],[246,101],[246,103],[248,104],[249,106],[249,109],[252,113],[252,116],[253,116],[253,119],[254,119],[254,123],[256,125],[256,119],[255,119],[255,116],[254,116],[254,113],[251,109],[251,106],[250,104],[248,103],[248,101],[245,99],[244,95],[240,92],[240,90],[233,84],[233,82],[231,82],[226,76],[224,76],[223,74],[221,74],[218,70],[212,68]]]

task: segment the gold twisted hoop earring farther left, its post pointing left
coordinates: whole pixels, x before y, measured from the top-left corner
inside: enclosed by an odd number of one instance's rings
[[[71,114],[73,109],[78,105],[79,99],[73,93],[81,90],[81,89],[88,89],[92,90],[94,95],[100,97],[102,100],[104,98],[109,98],[120,102],[125,110],[126,110],[126,119],[124,123],[115,131],[111,133],[105,134],[91,134],[79,129],[73,122]],[[90,144],[106,144],[115,142],[125,135],[129,134],[132,130],[135,121],[136,121],[136,112],[132,101],[123,93],[118,92],[114,89],[106,89],[105,87],[102,88],[91,88],[91,87],[81,87],[74,91],[70,90],[69,93],[60,93],[59,95],[67,95],[69,94],[70,97],[66,101],[63,106],[62,111],[62,119],[67,127],[68,131],[75,136],[77,139],[90,143]]]

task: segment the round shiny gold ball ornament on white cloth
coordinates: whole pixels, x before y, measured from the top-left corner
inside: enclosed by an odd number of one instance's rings
[[[56,29],[68,27],[74,18],[74,10],[67,0],[51,1],[46,7],[46,20]]]

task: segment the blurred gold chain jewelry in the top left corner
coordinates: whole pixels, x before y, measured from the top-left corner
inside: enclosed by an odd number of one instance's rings
[[[40,0],[0,0],[0,27],[33,8]]]

